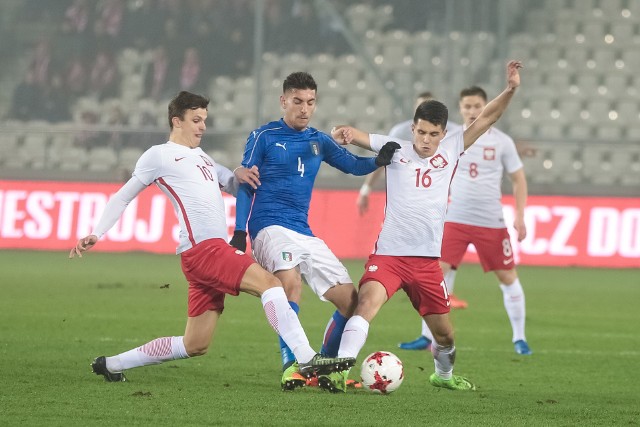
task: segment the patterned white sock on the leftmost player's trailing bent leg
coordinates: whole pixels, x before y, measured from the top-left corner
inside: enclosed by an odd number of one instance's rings
[[[157,365],[168,360],[188,357],[183,337],[163,337],[117,356],[107,357],[106,361],[110,372],[122,372],[139,366]]]

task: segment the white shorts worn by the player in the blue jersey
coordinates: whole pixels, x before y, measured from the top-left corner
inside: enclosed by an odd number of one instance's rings
[[[270,273],[298,267],[309,287],[322,301],[338,283],[353,283],[349,272],[322,239],[305,236],[279,225],[260,230],[251,242],[258,264]]]

